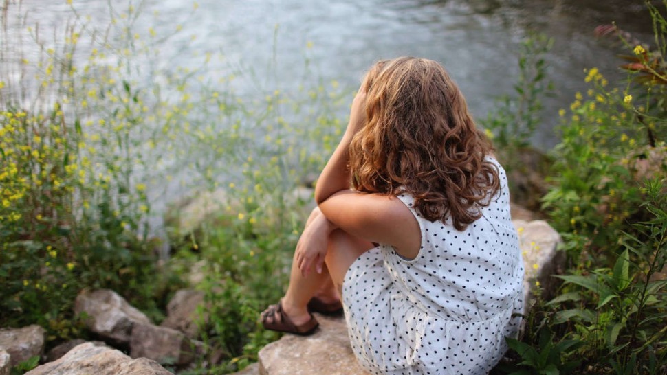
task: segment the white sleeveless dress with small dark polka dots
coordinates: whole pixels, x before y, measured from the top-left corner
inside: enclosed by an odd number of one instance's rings
[[[417,257],[380,245],[350,266],[349,337],[372,374],[487,374],[505,354],[523,312],[523,261],[499,171],[501,191],[464,231],[429,222],[401,194],[422,231]]]

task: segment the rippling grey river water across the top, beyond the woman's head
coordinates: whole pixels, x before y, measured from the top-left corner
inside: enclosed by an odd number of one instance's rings
[[[25,0],[21,7],[47,27],[70,14],[65,0]],[[533,140],[544,148],[557,141],[554,114],[587,89],[584,68],[598,67],[612,81],[624,77],[615,57],[619,43],[596,39],[595,26],[615,22],[652,41],[643,0],[146,0],[142,7],[138,29],[160,34],[182,27],[164,52],[168,65],[187,67],[198,63],[195,54],[220,52],[226,59],[211,62],[212,74],[228,73],[232,61],[262,77],[271,65],[276,84],[289,87],[308,58],[323,82],[352,89],[375,60],[423,56],[448,69],[477,118],[486,117],[494,98],[512,92],[525,36],[547,34],[555,41],[547,55],[555,91]],[[94,22],[108,17],[107,0],[75,0],[74,8]]]

